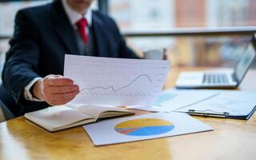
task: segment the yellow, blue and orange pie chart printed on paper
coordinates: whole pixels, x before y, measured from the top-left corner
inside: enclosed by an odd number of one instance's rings
[[[121,122],[114,127],[120,134],[130,136],[152,136],[164,134],[174,129],[172,122],[158,118],[139,118]]]

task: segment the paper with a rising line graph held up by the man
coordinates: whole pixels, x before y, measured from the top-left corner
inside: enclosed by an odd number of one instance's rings
[[[80,93],[70,104],[146,106],[162,91],[170,62],[65,55],[64,76]]]

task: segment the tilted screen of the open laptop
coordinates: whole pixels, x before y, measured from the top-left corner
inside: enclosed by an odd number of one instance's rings
[[[242,57],[239,59],[235,70],[234,75],[237,82],[241,82],[242,78],[245,76],[247,70],[249,70],[251,63],[254,61],[256,56],[255,48],[254,48],[254,40],[250,42],[250,44],[246,47],[246,50],[242,54]]]

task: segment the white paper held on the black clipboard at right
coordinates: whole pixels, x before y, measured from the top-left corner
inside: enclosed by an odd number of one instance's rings
[[[195,110],[198,112],[221,114],[228,112],[230,116],[250,114],[256,106],[256,92],[244,90],[220,90],[213,98],[182,108],[182,112]]]

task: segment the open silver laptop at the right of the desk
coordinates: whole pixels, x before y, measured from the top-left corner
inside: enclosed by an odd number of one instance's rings
[[[237,88],[256,57],[256,33],[246,46],[233,70],[182,72],[176,82],[179,89],[232,89]]]

